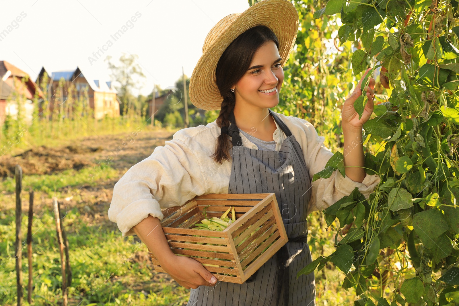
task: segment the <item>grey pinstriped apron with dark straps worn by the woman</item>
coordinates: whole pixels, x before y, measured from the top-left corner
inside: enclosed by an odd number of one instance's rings
[[[301,146],[273,111],[271,116],[287,136],[280,151],[250,149],[242,145],[235,123],[228,193],[274,193],[289,241],[243,284],[220,282],[190,290],[188,306],[315,306],[314,273],[297,273],[312,256],[306,242],[307,207],[311,182]],[[234,113],[230,122],[235,122]],[[283,264],[282,264],[283,263]]]

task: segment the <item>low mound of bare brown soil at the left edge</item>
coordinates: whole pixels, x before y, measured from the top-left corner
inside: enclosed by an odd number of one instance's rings
[[[0,157],[0,177],[14,177],[14,167],[19,164],[25,175],[51,174],[67,169],[79,170],[95,166],[95,163],[84,158],[84,154],[102,150],[102,147],[80,147],[69,145],[64,148],[48,148],[44,145],[26,150],[16,156]]]

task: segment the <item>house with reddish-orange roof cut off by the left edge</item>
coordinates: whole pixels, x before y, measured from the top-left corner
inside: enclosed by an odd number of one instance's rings
[[[24,120],[30,124],[34,120],[35,94],[39,98],[43,96],[38,85],[26,72],[7,61],[0,61],[0,78],[0,124],[5,122],[7,115],[17,119],[17,97],[22,95],[25,98],[20,99],[24,110]],[[22,78],[27,78],[24,84],[22,84]]]

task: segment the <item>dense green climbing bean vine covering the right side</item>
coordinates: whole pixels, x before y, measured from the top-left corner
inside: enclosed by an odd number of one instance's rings
[[[381,147],[364,166],[381,184],[369,199],[356,188],[324,210],[336,251],[298,276],[332,262],[355,305],[459,305],[458,2],[329,0],[313,17],[335,14],[341,44],[354,45],[354,75],[380,71],[386,95],[376,95],[363,139]],[[355,102],[359,114],[365,104]],[[339,152],[313,179],[336,169],[344,173]]]

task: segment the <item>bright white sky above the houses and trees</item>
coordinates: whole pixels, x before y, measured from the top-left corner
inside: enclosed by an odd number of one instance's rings
[[[215,23],[249,7],[247,0],[0,1],[0,32],[9,31],[0,41],[0,61],[10,62],[33,80],[42,66],[48,72],[79,66],[83,74],[110,80],[106,56],[118,60],[123,52],[135,54],[146,76],[138,83],[143,95],[151,93],[153,83],[163,89],[173,86],[182,66],[190,77]],[[136,12],[141,16],[130,21]],[[21,13],[26,17],[17,22]],[[128,21],[132,25],[115,41],[110,35]],[[93,52],[107,40],[113,45],[99,52],[101,57],[91,65],[88,57],[95,59]]]

